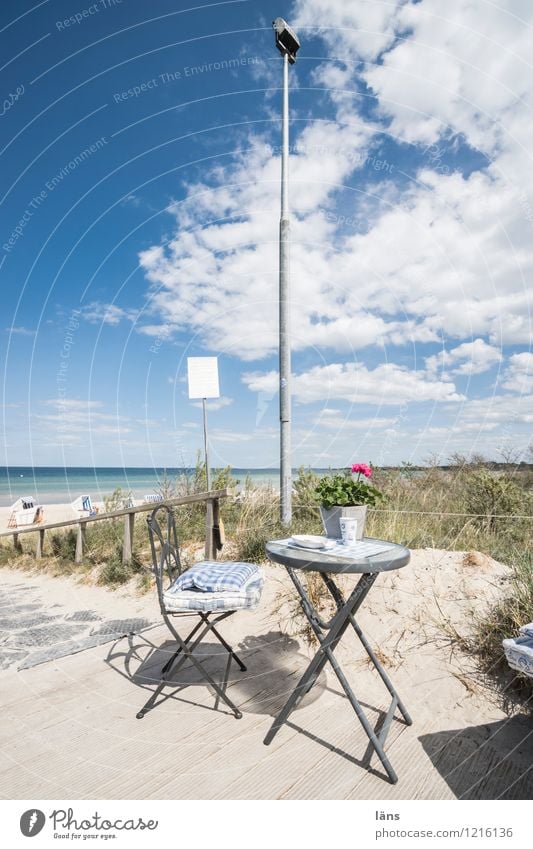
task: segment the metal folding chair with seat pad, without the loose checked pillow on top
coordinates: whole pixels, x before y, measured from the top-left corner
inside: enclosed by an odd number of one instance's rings
[[[158,513],[164,514],[164,522],[158,519]],[[183,667],[186,661],[190,661],[196,670],[201,674],[202,678],[212,687],[216,693],[215,709],[217,709],[220,700],[233,711],[237,719],[241,719],[242,713],[233,704],[231,699],[226,694],[226,688],[231,668],[231,663],[234,661],[242,672],[246,671],[246,666],[226,642],[218,631],[218,625],[224,619],[228,619],[237,610],[253,609],[259,603],[263,579],[261,572],[254,564],[239,564],[235,561],[220,561],[217,566],[224,565],[228,570],[232,567],[243,565],[254,568],[254,576],[247,582],[246,587],[242,592],[228,593],[210,593],[210,592],[175,592],[169,594],[177,579],[182,575],[183,569],[180,560],[178,537],[176,533],[176,522],[174,512],[171,507],[158,506],[150,514],[147,519],[148,534],[150,537],[150,546],[152,551],[152,564],[155,574],[157,593],[159,596],[159,606],[161,614],[167,625],[170,633],[177,643],[177,648],[167,660],[161,670],[161,680],[156,687],[144,707],[137,714],[137,719],[142,717],[153,708],[157,702],[163,688],[168,685],[175,685],[175,675]],[[163,524],[163,527],[162,527]],[[198,569],[203,566],[213,565],[213,561],[202,561],[197,563],[192,569]],[[168,581],[168,583],[166,583]],[[196,598],[194,597],[196,595]],[[195,605],[196,607],[192,607]],[[200,607],[201,609],[198,609]],[[230,607],[230,609],[228,609]],[[187,637],[182,638],[178,633],[173,620],[181,617],[198,617],[199,621]],[[212,675],[207,671],[204,663],[194,655],[195,649],[208,634],[213,634],[219,643],[224,647],[228,654],[226,669],[222,684],[218,684]],[[170,680],[172,677],[172,681]]]

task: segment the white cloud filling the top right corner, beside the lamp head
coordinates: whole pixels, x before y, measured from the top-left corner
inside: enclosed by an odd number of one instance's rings
[[[319,32],[346,66],[365,60],[354,70],[394,136],[431,144],[461,133],[494,155],[506,133],[502,118],[530,102],[532,21],[524,0],[508,0],[506,8],[471,0],[297,0],[294,24]],[[328,65],[324,73],[331,84],[347,85]]]

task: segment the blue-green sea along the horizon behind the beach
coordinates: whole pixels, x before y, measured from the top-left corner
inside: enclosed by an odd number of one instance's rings
[[[174,482],[190,472],[163,467],[0,466],[0,507],[8,507],[22,496],[34,496],[39,504],[68,504],[79,495],[103,501],[117,487],[142,499],[158,492],[165,480]],[[237,489],[242,489],[249,477],[255,486],[271,486],[279,491],[279,469],[232,469],[232,475],[239,482]]]

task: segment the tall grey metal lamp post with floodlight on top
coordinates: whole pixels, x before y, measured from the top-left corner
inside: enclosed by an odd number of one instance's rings
[[[283,120],[281,146],[281,218],[279,222],[279,421],[280,421],[280,518],[292,520],[291,469],[291,340],[289,324],[289,63],[294,65],[300,42],[283,18],[272,26],[276,47],[283,56]]]

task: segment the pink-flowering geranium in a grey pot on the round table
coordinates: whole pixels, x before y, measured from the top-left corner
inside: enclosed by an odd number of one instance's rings
[[[365,463],[354,463],[349,469],[320,478],[315,488],[315,498],[320,504],[322,522],[328,537],[340,537],[341,516],[357,519],[357,539],[364,536],[367,507],[383,499],[383,494],[368,483],[372,468]]]

